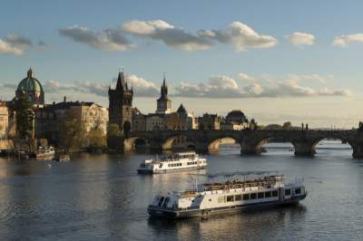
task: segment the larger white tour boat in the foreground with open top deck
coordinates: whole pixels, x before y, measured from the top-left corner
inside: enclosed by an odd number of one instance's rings
[[[233,173],[229,177],[235,177]],[[241,175],[239,173],[239,175]],[[282,175],[261,172],[242,178],[206,183],[183,192],[157,195],[148,212],[151,217],[208,217],[246,208],[274,207],[297,203],[307,196],[302,180],[285,183]],[[257,178],[256,178],[257,177]]]

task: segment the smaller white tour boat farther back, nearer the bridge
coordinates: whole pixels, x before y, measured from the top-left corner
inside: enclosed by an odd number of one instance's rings
[[[140,174],[165,173],[173,171],[205,169],[207,159],[201,158],[197,153],[180,152],[167,157],[146,159],[140,164],[137,172]]]

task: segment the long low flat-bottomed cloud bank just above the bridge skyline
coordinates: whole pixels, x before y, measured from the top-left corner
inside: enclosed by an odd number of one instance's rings
[[[283,81],[266,81],[250,77],[240,72],[238,79],[243,83],[238,85],[231,77],[221,75],[211,77],[206,83],[191,84],[182,82],[174,89],[176,96],[206,97],[206,98],[260,98],[260,97],[308,97],[308,96],[349,96],[348,90],[330,90],[328,87],[312,88],[300,82],[318,80],[319,75],[289,74]],[[322,78],[322,77],[321,77]],[[319,82],[320,84],[325,82]]]

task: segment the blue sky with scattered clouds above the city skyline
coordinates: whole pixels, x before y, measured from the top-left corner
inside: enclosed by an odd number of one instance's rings
[[[120,70],[154,112],[241,110],[261,124],[352,128],[363,101],[362,1],[2,1],[0,100],[31,66],[45,101],[96,101]]]

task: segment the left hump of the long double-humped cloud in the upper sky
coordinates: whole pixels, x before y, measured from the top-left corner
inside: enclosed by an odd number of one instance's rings
[[[203,36],[190,34],[162,20],[134,20],[121,25],[121,29],[129,34],[160,40],[168,46],[184,51],[206,50],[213,44]]]

